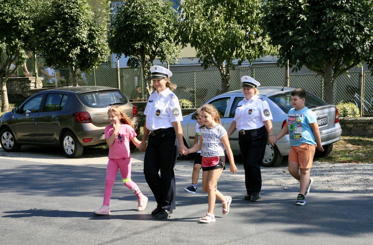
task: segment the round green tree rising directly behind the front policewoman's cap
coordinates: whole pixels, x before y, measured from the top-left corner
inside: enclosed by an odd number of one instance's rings
[[[127,0],[116,7],[109,28],[109,47],[118,57],[125,55],[140,62],[150,93],[149,69],[154,59],[178,61],[180,48],[173,42],[178,15],[169,0]],[[136,65],[137,62],[130,63],[131,67]]]

